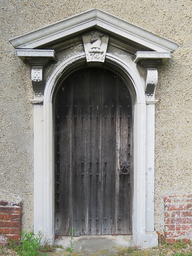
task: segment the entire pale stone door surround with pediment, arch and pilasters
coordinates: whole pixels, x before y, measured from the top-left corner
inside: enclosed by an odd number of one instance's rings
[[[98,9],[12,38],[10,42],[18,56],[32,65],[34,232],[41,230],[44,238],[54,242],[54,95],[61,80],[70,72],[89,65],[102,66],[121,76],[129,85],[133,97],[132,236],[136,246],[156,246],[156,68],[171,58],[178,45]]]

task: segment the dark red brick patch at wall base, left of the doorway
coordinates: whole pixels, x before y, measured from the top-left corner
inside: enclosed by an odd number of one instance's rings
[[[21,238],[22,205],[0,201],[0,245],[7,244],[7,239]]]

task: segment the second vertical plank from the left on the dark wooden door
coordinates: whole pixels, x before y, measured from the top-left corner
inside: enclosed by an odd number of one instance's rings
[[[72,78],[72,227],[80,236],[86,234],[86,72],[78,70]]]

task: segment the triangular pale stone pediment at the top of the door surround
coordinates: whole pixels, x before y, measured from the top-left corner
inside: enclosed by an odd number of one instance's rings
[[[138,51],[174,52],[178,44],[107,12],[92,9],[60,22],[10,39],[16,49],[59,52],[82,43],[82,35],[98,30],[109,36],[109,44],[135,54]]]

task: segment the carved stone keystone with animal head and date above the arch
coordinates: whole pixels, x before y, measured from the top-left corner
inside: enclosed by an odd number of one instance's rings
[[[104,62],[109,37],[99,31],[82,36],[87,62]]]

